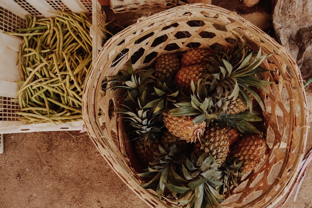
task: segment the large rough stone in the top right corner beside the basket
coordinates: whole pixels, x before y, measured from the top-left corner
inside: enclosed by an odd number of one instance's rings
[[[297,61],[304,80],[312,77],[312,1],[277,0],[273,11],[276,36]]]

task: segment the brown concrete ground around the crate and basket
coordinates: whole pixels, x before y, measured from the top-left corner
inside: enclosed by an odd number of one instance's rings
[[[265,1],[265,0],[263,0]],[[212,3],[221,4],[222,1]],[[224,3],[225,2],[225,3]],[[228,4],[226,4],[226,2]],[[223,1],[220,6],[241,11],[263,29],[271,26],[261,8],[244,12]],[[157,9],[153,9],[155,12]],[[116,18],[110,30],[120,30],[147,10],[123,13],[118,17],[106,8],[108,21]],[[131,17],[131,18],[126,18]],[[123,19],[124,18],[124,19]],[[252,19],[253,18],[253,19]],[[129,22],[124,20],[128,19]],[[267,24],[263,25],[263,21]],[[260,27],[260,26],[259,26]],[[308,103],[312,102],[312,88],[307,89]],[[310,113],[312,106],[309,106]],[[306,152],[312,148],[309,133]],[[12,133],[4,135],[4,152],[0,154],[0,208],[148,208],[108,166],[86,133],[77,131]],[[285,208],[312,208],[310,197],[312,167],[308,166],[305,179],[294,202],[293,193]],[[285,197],[281,200],[284,201]]]

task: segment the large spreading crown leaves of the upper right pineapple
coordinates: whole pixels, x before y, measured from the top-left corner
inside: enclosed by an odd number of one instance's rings
[[[271,82],[266,80],[261,80],[256,77],[256,74],[269,71],[260,67],[261,63],[270,57],[269,55],[261,54],[261,47],[259,51],[255,54],[250,53],[245,57],[245,52],[242,54],[241,60],[236,64],[231,64],[229,61],[221,59],[221,63],[212,59],[212,65],[214,67],[208,67],[209,69],[216,69],[219,67],[219,73],[212,74],[212,78],[206,84],[209,85],[208,92],[216,92],[217,96],[228,97],[236,99],[238,96],[241,98],[243,103],[247,105],[252,110],[252,101],[248,96],[251,93],[256,101],[259,103],[262,110],[264,110],[264,104],[259,97],[259,95],[251,89],[251,87],[256,87],[258,89],[268,91],[266,85],[271,84]],[[247,92],[246,92],[247,91]]]

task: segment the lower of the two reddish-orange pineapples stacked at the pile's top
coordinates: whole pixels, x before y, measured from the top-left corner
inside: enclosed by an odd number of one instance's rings
[[[189,90],[191,88],[192,80],[196,86],[197,81],[202,78],[204,70],[204,65],[190,65],[182,67],[175,76],[177,86],[183,86],[184,89]]]

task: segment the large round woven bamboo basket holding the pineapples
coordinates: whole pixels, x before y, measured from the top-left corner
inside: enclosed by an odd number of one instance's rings
[[[196,22],[196,24],[192,24]],[[244,36],[262,52],[273,55],[262,65],[270,70],[264,79],[272,81],[269,93],[261,92],[266,142],[271,147],[266,160],[243,178],[223,207],[273,207],[296,179],[305,153],[308,111],[303,81],[295,60],[269,35],[226,9],[195,3],[178,6],[150,17],[142,17],[106,42],[88,76],[83,97],[85,127],[105,160],[116,174],[151,207],[172,207],[144,189],[136,175],[136,161],[124,133],[120,114],[111,114],[116,93],[104,92],[106,76],[153,65],[163,53],[207,48],[215,43],[227,46],[227,38]]]

